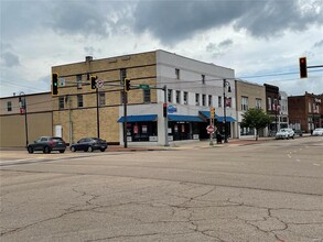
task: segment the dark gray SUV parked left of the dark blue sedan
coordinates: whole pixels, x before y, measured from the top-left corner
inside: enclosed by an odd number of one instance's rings
[[[66,143],[62,138],[56,136],[40,136],[33,143],[29,144],[28,152],[34,153],[35,151],[42,151],[43,153],[51,153],[52,151],[58,151],[64,153],[66,150]]]

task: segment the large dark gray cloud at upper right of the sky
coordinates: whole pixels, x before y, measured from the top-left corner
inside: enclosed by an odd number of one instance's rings
[[[322,2],[303,8],[298,1],[280,0],[140,1],[134,11],[134,30],[149,31],[171,45],[228,23],[237,31],[270,37],[284,30],[302,31],[310,23],[323,23]]]

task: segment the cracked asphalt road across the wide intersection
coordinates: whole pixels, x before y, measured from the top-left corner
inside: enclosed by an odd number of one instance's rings
[[[323,138],[0,165],[1,242],[323,242]]]

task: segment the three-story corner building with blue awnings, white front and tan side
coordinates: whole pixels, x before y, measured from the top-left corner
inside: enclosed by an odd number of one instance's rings
[[[204,139],[212,107],[218,129],[224,130],[225,114],[228,135],[237,136],[233,69],[154,51],[95,61],[87,57],[82,63],[54,66],[52,73],[57,73],[62,82],[53,101],[54,131],[69,143],[84,136],[118,144],[127,139],[133,145]],[[98,89],[91,89],[91,76],[97,76]],[[125,78],[131,81],[127,95]],[[226,94],[226,110],[223,79],[233,89]]]

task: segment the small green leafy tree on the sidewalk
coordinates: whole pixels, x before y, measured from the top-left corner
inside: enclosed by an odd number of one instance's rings
[[[256,141],[258,141],[258,133],[260,129],[263,129],[272,122],[272,118],[268,116],[262,109],[249,109],[243,114],[241,128],[256,129]]]

